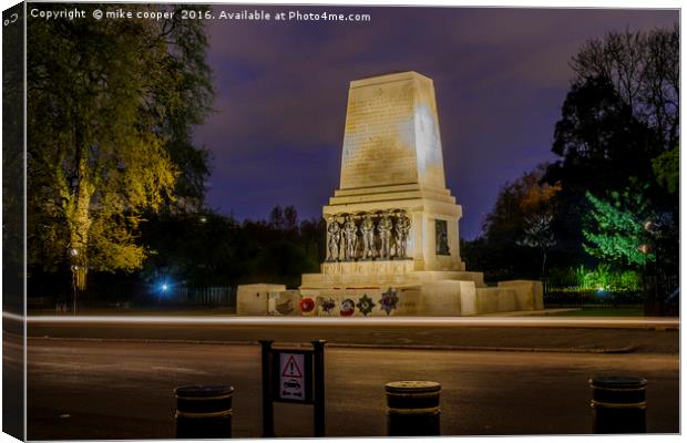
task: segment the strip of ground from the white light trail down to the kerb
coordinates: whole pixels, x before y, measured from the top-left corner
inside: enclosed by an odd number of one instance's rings
[[[643,318],[30,318],[30,337],[565,352],[679,352],[676,319]]]

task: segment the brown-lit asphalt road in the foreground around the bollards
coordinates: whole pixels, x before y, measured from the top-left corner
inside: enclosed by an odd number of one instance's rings
[[[665,339],[666,332],[662,333]],[[587,380],[612,374],[646,377],[648,431],[676,433],[678,365],[675,353],[332,347],[326,351],[327,435],[384,435],[383,384],[393,380],[442,384],[443,435],[589,433]],[[30,338],[28,436],[173,437],[173,389],[227,383],[236,389],[234,436],[256,437],[260,435],[259,374],[255,344]],[[310,436],[310,414],[311,406],[277,404],[277,435]]]

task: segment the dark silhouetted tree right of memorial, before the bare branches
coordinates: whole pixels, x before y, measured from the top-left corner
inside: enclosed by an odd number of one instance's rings
[[[592,209],[585,194],[623,189],[633,176],[652,181],[650,159],[660,153],[657,140],[607,79],[588,79],[571,87],[554,132],[552,151],[560,159],[544,178],[562,187],[555,196],[552,229],[566,265],[588,260],[581,228]]]

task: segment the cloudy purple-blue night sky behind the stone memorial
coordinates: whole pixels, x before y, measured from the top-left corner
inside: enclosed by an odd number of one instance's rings
[[[568,61],[611,30],[671,27],[677,11],[222,7],[353,12],[370,22],[208,21],[214,113],[195,140],[212,155],[208,205],[238,219],[295,205],[321,216],[339,184],[349,82],[390,71],[434,81],[447,186],[461,236],[480,234],[501,186],[551,154]]]

